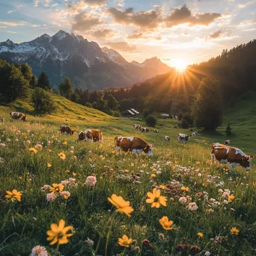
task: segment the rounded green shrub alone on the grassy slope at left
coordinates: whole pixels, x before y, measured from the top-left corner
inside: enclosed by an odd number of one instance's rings
[[[55,103],[53,102],[49,92],[43,90],[42,88],[34,89],[32,94],[32,102],[35,111],[40,114],[50,114],[56,109]]]

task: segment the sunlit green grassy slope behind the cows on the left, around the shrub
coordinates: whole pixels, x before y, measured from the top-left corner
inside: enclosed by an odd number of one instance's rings
[[[107,115],[103,112],[100,112],[97,109],[91,109],[85,106],[82,106],[77,103],[73,103],[70,100],[67,100],[64,97],[61,97],[58,94],[51,94],[52,99],[54,100],[57,109],[52,115],[43,115],[43,119],[51,121],[52,118],[59,121],[64,121],[67,118],[69,121],[111,121],[115,118]],[[31,103],[31,97],[28,100],[16,100],[14,103],[11,103],[8,106],[0,106],[0,112],[4,112],[4,118],[8,118],[9,112],[19,111],[27,114],[30,120],[34,120],[34,109]],[[1,114],[2,115],[2,114]],[[85,118],[85,120],[83,120]]]

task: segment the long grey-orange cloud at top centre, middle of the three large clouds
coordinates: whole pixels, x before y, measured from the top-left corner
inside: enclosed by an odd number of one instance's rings
[[[141,28],[156,28],[162,22],[161,13],[158,10],[133,12],[133,8],[121,10],[111,7],[107,10],[116,23],[135,25]]]

